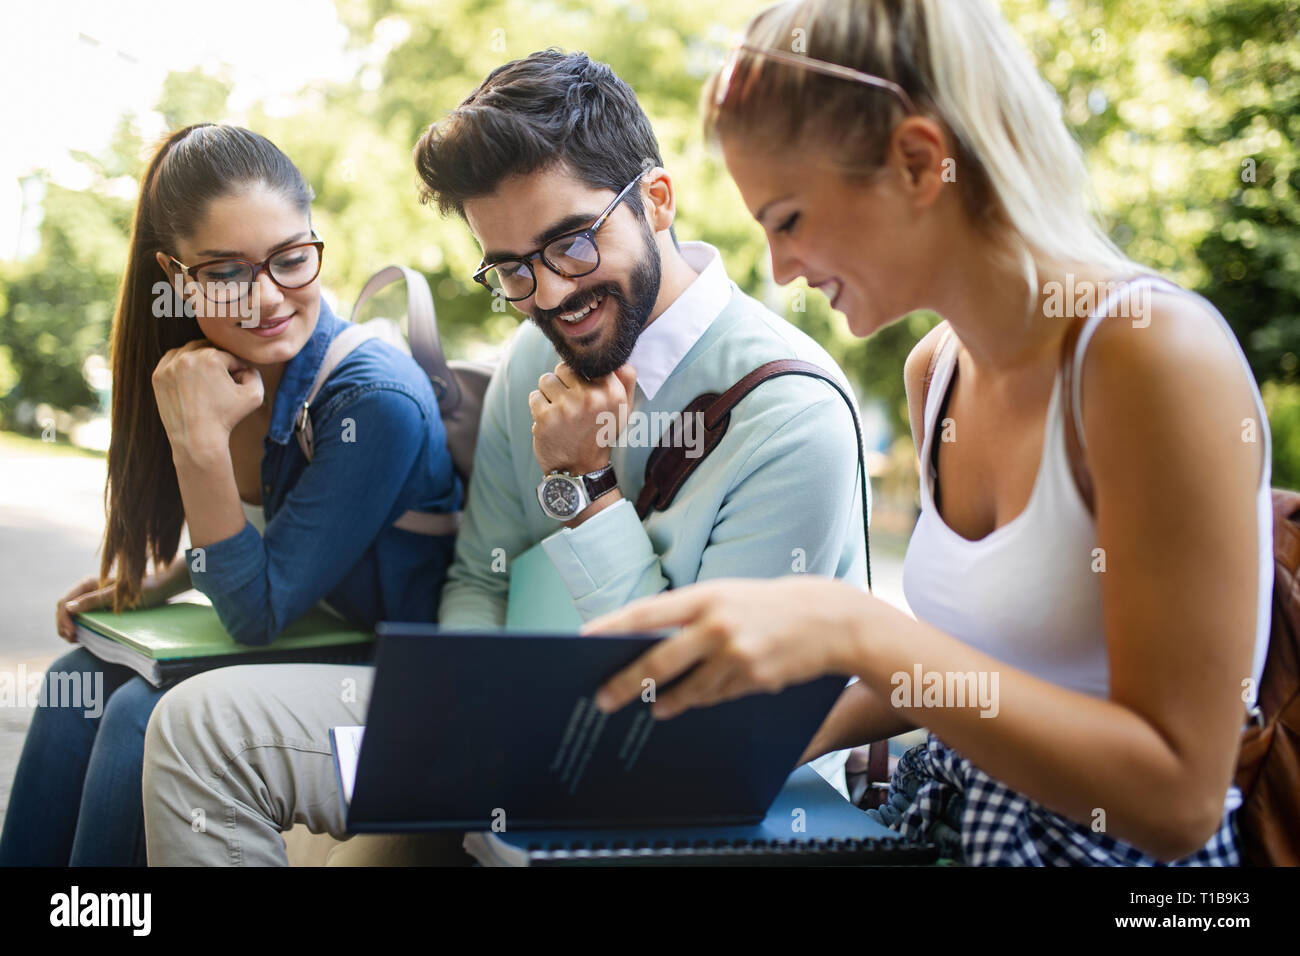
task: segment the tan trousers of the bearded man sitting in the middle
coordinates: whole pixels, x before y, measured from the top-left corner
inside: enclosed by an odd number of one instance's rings
[[[346,839],[329,728],[365,722],[373,675],[351,665],[254,665],[172,689],[144,741],[150,865],[285,866],[281,831],[295,823]],[[468,862],[460,839],[364,838],[343,856]]]

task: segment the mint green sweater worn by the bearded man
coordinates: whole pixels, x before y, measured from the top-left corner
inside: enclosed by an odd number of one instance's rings
[[[785,358],[826,368],[853,394],[826,350],[733,282],[727,307],[654,401],[638,388],[633,410],[681,411],[701,393],[722,393],[764,362]],[[550,558],[543,572],[555,572],[545,587],[576,611],[568,622],[563,613],[538,611],[533,623],[540,628],[572,626],[637,597],[711,578],[802,571],[864,585],[853,419],[827,382],[784,376],[759,385],[732,411],[725,437],[673,503],[644,523],[633,502],[651,449],[614,447],[624,501],[571,529],[537,502],[542,471],[528,410],[537,380],[558,363],[542,332],[526,323],[488,388],[464,522],[442,592],[443,627],[504,626],[512,564],[538,542]],[[529,609],[512,607],[510,617],[529,622]]]

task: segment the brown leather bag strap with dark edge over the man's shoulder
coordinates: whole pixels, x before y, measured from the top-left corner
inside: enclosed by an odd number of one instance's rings
[[[690,458],[684,442],[670,441],[660,444],[650,453],[646,460],[645,484],[637,497],[637,515],[645,520],[651,511],[663,511],[672,505],[677,492],[690,477],[692,472],[699,467],[708,454],[718,446],[731,424],[731,411],[750,392],[762,385],[768,378],[777,378],[785,375],[805,375],[820,378],[840,393],[840,398],[849,406],[853,416],[853,431],[858,440],[858,476],[862,480],[862,535],[867,549],[867,591],[871,591],[871,510],[870,485],[867,484],[866,458],[862,450],[862,425],[858,423],[858,410],[853,405],[844,388],[820,365],[801,359],[776,359],[759,365],[738,382],[727,389],[723,394],[706,392],[698,395],[682,412],[682,419],[688,415],[701,415],[705,427],[705,442],[698,455]]]

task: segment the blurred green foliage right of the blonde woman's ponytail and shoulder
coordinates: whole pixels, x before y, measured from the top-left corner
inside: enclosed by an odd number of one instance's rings
[[[1112,235],[1205,295],[1256,378],[1300,354],[1300,3],[1005,0],[1061,95]],[[1274,484],[1300,486],[1300,388],[1266,388]]]

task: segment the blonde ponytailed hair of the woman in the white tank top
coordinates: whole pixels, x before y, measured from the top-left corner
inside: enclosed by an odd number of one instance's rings
[[[989,0],[792,0],[754,17],[746,47],[802,53],[893,81],[939,122],[957,153],[972,221],[1018,261],[1037,294],[1045,263],[1148,272],[1102,230],[1087,166],[1060,100]],[[710,137],[835,143],[849,176],[878,170],[906,116],[888,91],[737,51],[705,87]]]

